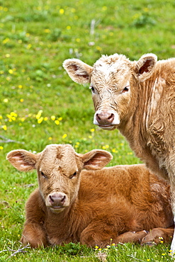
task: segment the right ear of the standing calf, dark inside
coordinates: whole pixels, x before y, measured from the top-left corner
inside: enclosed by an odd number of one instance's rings
[[[142,55],[135,65],[135,72],[140,81],[145,81],[154,72],[157,56],[154,54]]]

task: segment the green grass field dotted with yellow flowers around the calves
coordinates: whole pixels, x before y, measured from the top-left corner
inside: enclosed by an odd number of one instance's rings
[[[115,52],[174,57],[174,13],[174,0],[0,0],[0,261],[99,261],[99,252],[111,262],[171,261],[164,244],[102,251],[68,244],[11,256],[20,248],[24,205],[37,179],[13,169],[6,154],[70,143],[79,153],[108,150],[109,165],[139,163],[117,130],[93,125],[89,86],[73,83],[62,62],[77,57],[92,65]]]

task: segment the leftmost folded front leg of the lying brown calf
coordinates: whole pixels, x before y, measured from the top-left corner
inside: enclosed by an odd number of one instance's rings
[[[21,242],[24,245],[29,243],[32,248],[47,246],[48,244],[45,230],[40,224],[25,224]]]

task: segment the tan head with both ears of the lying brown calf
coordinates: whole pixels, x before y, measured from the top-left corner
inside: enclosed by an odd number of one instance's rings
[[[70,144],[50,144],[43,152],[33,154],[23,149],[7,154],[19,171],[38,171],[40,194],[52,212],[61,212],[77,197],[82,169],[101,169],[112,159],[104,150],[77,154]]]

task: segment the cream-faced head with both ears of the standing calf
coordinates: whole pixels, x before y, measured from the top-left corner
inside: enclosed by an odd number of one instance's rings
[[[130,62],[124,55],[103,55],[94,67],[79,59],[67,59],[63,63],[73,81],[90,84],[94,101],[94,124],[106,130],[113,130],[132,108],[133,78],[145,81],[154,72],[156,55],[143,55],[137,62]],[[134,95],[133,95],[134,96]]]

